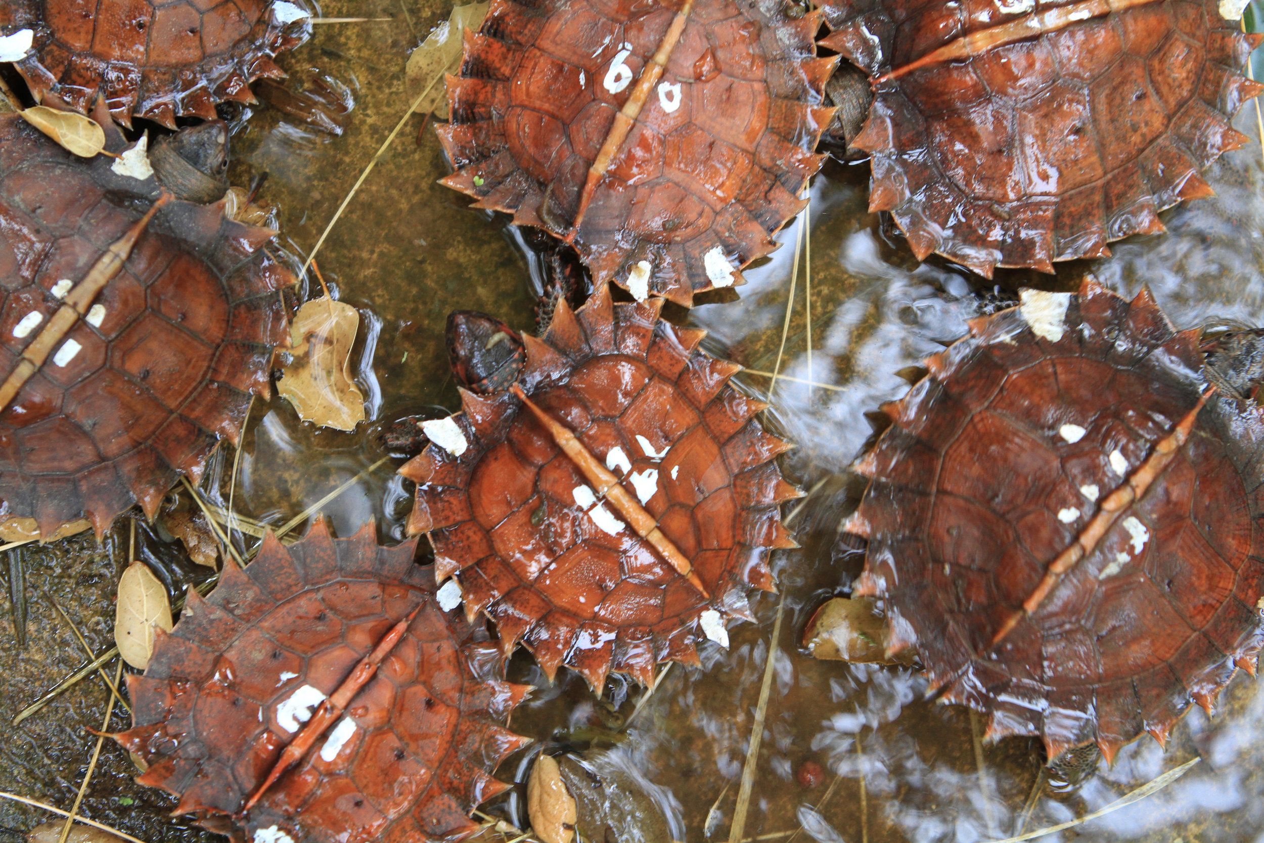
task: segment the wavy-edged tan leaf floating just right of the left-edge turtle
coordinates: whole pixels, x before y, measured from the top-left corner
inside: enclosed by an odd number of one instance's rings
[[[298,308],[291,326],[293,360],[282,367],[277,391],[300,418],[337,430],[364,421],[364,394],[351,380],[350,356],[360,315],[327,296]]]

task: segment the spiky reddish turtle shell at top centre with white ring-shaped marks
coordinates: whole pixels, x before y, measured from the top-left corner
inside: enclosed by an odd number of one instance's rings
[[[475,207],[566,235],[589,166],[678,6],[493,0],[465,35],[460,75],[447,78],[453,119],[437,131],[456,172],[444,183],[477,197]],[[833,118],[820,104],[837,59],[817,58],[819,25],[818,14],[793,20],[779,4],[695,0],[575,233],[595,283],[627,288],[645,260],[648,291],[688,307],[714,278],[732,283],[724,264],[744,267],[776,246],[771,235],[803,207]],[[624,49],[633,78],[618,88]],[[680,86],[670,112],[665,85]]]

